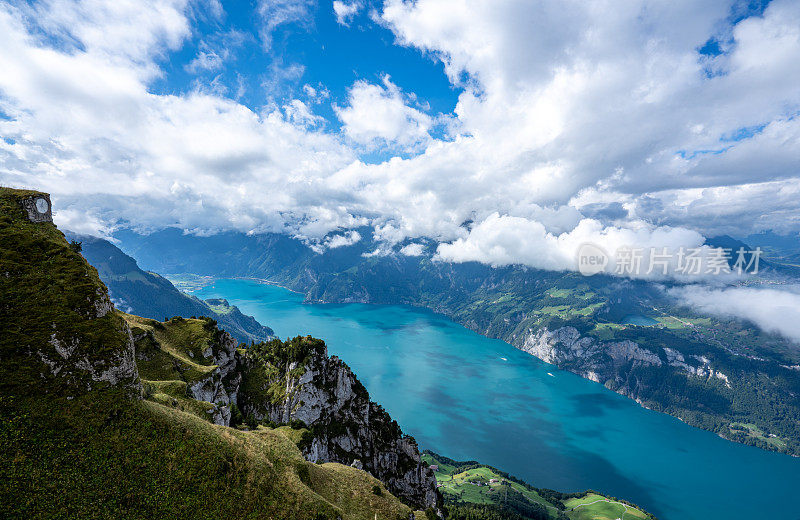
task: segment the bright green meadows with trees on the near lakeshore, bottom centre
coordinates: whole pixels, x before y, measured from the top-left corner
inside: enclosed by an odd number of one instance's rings
[[[502,505],[508,493],[521,495],[527,501],[539,504],[553,519],[559,518],[560,511],[573,520],[616,520],[622,517],[623,512],[625,518],[630,520],[652,518],[648,513],[627,502],[623,503],[594,492],[580,493],[577,496],[548,495],[516,479],[509,479],[507,475],[491,466],[450,461],[428,452],[422,457],[428,464],[439,466],[435,471],[436,480],[441,484],[439,490],[446,503]],[[497,479],[499,482],[490,483],[492,479]],[[482,485],[478,486],[476,482]]]

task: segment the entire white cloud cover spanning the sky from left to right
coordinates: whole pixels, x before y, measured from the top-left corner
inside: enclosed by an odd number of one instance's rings
[[[315,5],[258,2],[264,45],[307,27]],[[262,107],[213,80],[157,92],[192,9],[0,2],[0,182],[52,192],[57,218],[92,215],[98,233],[174,225],[324,243],[372,226],[381,251],[427,237],[441,259],[548,269],[574,265],[581,240],[800,230],[797,2],[740,20],[721,0],[386,0],[375,18],[460,93],[446,116],[388,76],[345,99],[315,84]],[[698,51],[709,39],[720,53]],[[224,66],[217,43],[200,45],[193,70]],[[304,70],[263,81],[299,85]],[[331,104],[341,131],[319,119]],[[374,152],[402,157],[361,159]]]

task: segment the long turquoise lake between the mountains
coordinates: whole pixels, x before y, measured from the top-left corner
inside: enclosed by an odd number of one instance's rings
[[[323,338],[422,449],[537,487],[626,498],[661,520],[800,519],[800,459],[645,410],[432,312],[303,305],[246,280],[193,294],[227,298],[283,338]]]

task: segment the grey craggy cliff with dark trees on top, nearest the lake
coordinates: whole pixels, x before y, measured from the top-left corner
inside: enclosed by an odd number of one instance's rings
[[[365,469],[392,493],[421,508],[437,508],[433,472],[416,441],[370,401],[366,388],[325,344],[310,337],[249,349],[239,403],[245,415],[309,428],[300,446],[312,462]]]

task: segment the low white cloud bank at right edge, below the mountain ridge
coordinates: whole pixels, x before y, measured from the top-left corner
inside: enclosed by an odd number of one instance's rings
[[[670,293],[702,312],[749,320],[759,328],[800,343],[800,293],[792,290],[685,286]]]

